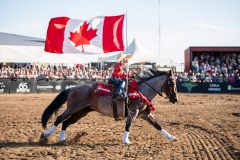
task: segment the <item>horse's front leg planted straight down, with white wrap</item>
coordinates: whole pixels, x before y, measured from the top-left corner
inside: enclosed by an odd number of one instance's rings
[[[125,125],[125,131],[123,133],[123,137],[122,137],[122,143],[123,144],[131,144],[131,142],[129,141],[129,129],[132,125],[132,122],[136,119],[139,110],[135,109],[135,110],[130,110],[128,112],[128,117],[127,117],[127,121],[126,121],[126,125]]]

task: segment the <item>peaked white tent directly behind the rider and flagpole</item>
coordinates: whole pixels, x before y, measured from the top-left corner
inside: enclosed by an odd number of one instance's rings
[[[147,51],[142,47],[142,45],[133,39],[133,41],[130,43],[130,45],[127,47],[126,50],[128,56],[129,56],[129,64],[134,63],[144,63],[144,62],[157,62],[157,55]],[[121,54],[125,54],[122,52]],[[119,57],[119,54],[106,57],[106,58],[99,58],[99,61],[102,62],[116,62]]]

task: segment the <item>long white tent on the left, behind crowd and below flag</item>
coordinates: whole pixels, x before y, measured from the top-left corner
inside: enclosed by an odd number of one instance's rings
[[[45,40],[0,32],[0,62],[41,62],[78,64],[98,62],[99,58],[118,55],[120,52],[107,54],[54,54],[44,51]]]

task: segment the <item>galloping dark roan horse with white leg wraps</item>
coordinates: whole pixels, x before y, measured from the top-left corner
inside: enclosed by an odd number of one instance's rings
[[[138,82],[139,91],[141,91],[148,99],[152,100],[157,94],[161,95],[162,92],[166,94],[169,101],[172,103],[177,102],[177,90],[176,80],[172,71],[154,71],[150,70],[148,76],[141,78]],[[86,116],[91,111],[97,111],[102,115],[108,117],[114,117],[112,99],[107,96],[99,96],[95,94],[96,84],[83,84],[74,88],[66,89],[56,96],[51,104],[45,109],[42,115],[42,126],[46,128],[47,122],[52,114],[60,109],[60,107],[67,101],[66,110],[57,117],[54,124],[44,131],[41,135],[41,139],[47,139],[56,127],[62,124],[62,130],[60,133],[60,142],[65,142],[65,132],[67,127],[76,123],[79,119]],[[124,103],[121,100],[117,102],[117,113],[119,116],[125,115]],[[142,104],[140,100],[130,100],[129,107],[127,107],[127,121],[125,131],[122,137],[124,144],[130,144],[129,141],[129,129],[132,122],[140,117],[152,126],[154,126],[161,134],[171,141],[175,140],[175,137],[166,132],[157,120],[154,118],[151,110],[146,105]]]

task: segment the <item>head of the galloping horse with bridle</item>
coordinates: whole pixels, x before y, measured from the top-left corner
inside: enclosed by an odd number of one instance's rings
[[[166,93],[167,97],[169,98],[169,101],[172,103],[177,102],[177,85],[176,85],[176,79],[174,77],[173,71],[170,70],[168,74],[168,79],[166,80],[163,91]]]

